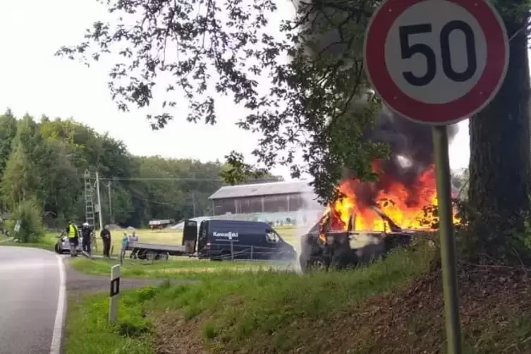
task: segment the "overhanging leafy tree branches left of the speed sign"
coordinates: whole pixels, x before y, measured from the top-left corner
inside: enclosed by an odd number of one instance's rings
[[[310,173],[329,200],[344,167],[372,178],[370,161],[386,153],[362,139],[379,109],[362,65],[375,4],[299,1],[276,31],[272,19],[283,13],[272,0],[108,0],[114,20],[94,23],[83,42],[57,54],[90,64],[118,53],[112,98],[127,111],[160,94],[160,113],[148,116],[154,129],[173,118],[176,92],[188,99],[188,121],[207,124],[219,119],[214,94],[232,97],[250,111],[238,126],[262,136],[259,163]],[[171,80],[159,89],[161,77]]]

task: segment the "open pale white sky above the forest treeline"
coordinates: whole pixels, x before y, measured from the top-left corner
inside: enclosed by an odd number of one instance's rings
[[[0,113],[10,107],[16,116],[72,117],[123,140],[133,154],[209,161],[223,160],[232,149],[250,156],[255,147],[257,137],[234,126],[245,110],[228,99],[219,101],[219,111],[226,113],[216,126],[188,123],[182,116],[154,132],[145,120],[149,112],[116,109],[105,66],[87,68],[56,58],[61,45],[76,44],[85,28],[106,16],[97,1],[0,1],[0,14]],[[468,166],[470,155],[468,121],[459,125],[450,151],[452,169]],[[288,178],[287,169],[274,172]]]

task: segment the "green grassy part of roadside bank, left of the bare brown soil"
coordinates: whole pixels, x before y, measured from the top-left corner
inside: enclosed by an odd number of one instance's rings
[[[146,354],[319,353],[327,343],[322,331],[334,316],[423,274],[432,256],[428,249],[402,251],[365,269],[304,276],[273,270],[227,270],[228,278],[205,274],[197,284],[130,291],[112,328],[104,322],[105,298],[86,298],[68,317],[67,353],[122,353],[136,341],[121,329],[130,323],[148,328],[141,336],[149,344],[142,348]],[[87,338],[92,351],[73,351],[73,331],[106,334]]]

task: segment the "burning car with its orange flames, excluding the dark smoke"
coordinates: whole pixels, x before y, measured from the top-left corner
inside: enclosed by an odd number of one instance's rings
[[[370,264],[393,248],[409,245],[413,235],[437,228],[434,166],[409,181],[393,178],[380,167],[375,161],[375,183],[346,178],[338,185],[340,197],[301,238],[303,272]],[[454,222],[459,222],[456,217]]]

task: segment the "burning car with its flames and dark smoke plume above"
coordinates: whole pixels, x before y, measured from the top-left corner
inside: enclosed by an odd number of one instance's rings
[[[362,139],[386,144],[389,155],[372,161],[372,173],[377,176],[372,182],[360,181],[346,169],[337,186],[339,197],[301,239],[303,271],[367,264],[408,245],[414,234],[438,227],[430,129],[382,107]],[[447,130],[451,140],[458,126]],[[454,222],[460,221],[454,216]],[[361,239],[365,242],[359,245]]]

